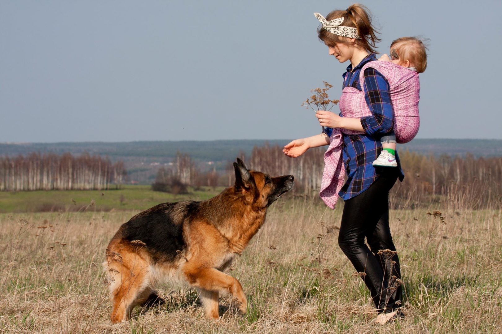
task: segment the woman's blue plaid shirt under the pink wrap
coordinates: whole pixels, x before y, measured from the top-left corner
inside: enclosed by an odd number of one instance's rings
[[[353,70],[350,64],[347,72],[343,74],[343,88],[354,87],[361,91],[359,73],[364,64],[373,60],[376,60],[375,55],[368,55]],[[362,128],[366,134],[343,135],[343,164],[348,177],[338,193],[343,200],[357,196],[368,189],[379,177],[380,169],[374,168],[371,164],[382,151],[380,138],[391,132],[394,126],[394,109],[387,79],[373,68],[365,69],[363,77],[364,98],[373,115],[361,118]],[[332,132],[330,128],[325,129],[328,136],[331,136]],[[396,161],[400,173],[399,180],[403,181],[404,174],[397,152]]]

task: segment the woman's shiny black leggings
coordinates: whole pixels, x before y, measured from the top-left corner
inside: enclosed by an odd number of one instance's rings
[[[338,235],[340,248],[369,288],[379,313],[401,306],[401,270],[389,228],[389,190],[397,177],[397,168],[384,167],[367,190],[346,200]]]

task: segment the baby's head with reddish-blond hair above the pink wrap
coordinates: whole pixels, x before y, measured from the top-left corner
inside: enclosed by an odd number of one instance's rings
[[[400,66],[414,67],[418,73],[427,67],[427,47],[417,37],[401,37],[391,44],[391,61]]]

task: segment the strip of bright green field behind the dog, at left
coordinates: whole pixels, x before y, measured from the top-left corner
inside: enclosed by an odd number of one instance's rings
[[[146,185],[123,185],[113,190],[36,190],[0,192],[0,212],[145,210],[164,202],[204,200],[223,188],[189,188],[188,194],[152,191]],[[94,201],[94,202],[92,202]],[[94,203],[94,204],[92,204]]]

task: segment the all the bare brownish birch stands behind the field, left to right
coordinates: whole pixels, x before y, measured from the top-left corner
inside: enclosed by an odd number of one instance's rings
[[[214,163],[207,164],[212,169],[203,170],[190,154],[178,151],[170,163],[148,165],[154,174],[149,183],[155,190],[173,193],[185,192],[187,186],[195,189],[230,186],[234,180],[231,162],[239,156],[249,168],[272,176],[294,175],[293,193],[316,196],[324,168],[323,152],[323,148],[311,149],[291,159],[283,154],[282,144],[255,145],[249,154],[243,150],[232,152],[230,159],[220,162],[219,170]],[[470,153],[435,156],[401,150],[400,157],[406,176],[391,194],[394,208],[444,201],[456,208],[502,206],[502,156],[476,157]],[[0,190],[4,191],[109,189],[119,187],[125,178],[126,168],[121,161],[112,163],[108,158],[88,153],[0,157]]]

